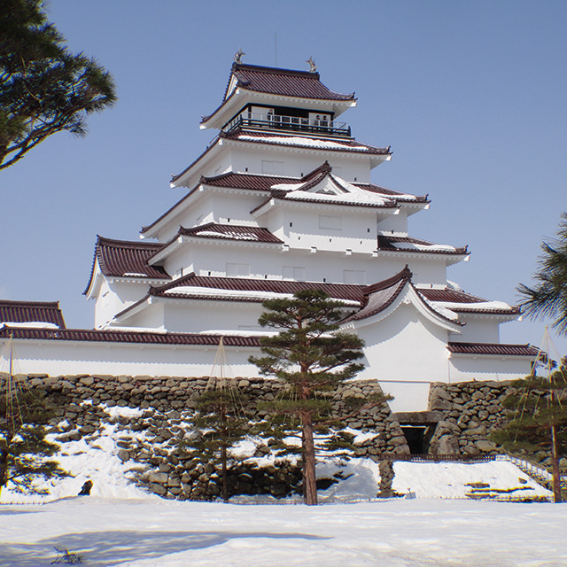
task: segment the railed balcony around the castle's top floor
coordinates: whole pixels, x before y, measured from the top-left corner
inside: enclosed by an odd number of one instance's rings
[[[299,131],[310,134],[322,134],[323,136],[350,137],[351,128],[346,122],[315,118],[304,118],[302,116],[284,116],[275,113],[251,113],[238,114],[226,125],[225,131],[232,132],[238,128],[266,128],[270,130]]]

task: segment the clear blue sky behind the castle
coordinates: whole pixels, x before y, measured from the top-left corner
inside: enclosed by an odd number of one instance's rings
[[[214,136],[198,122],[238,48],[255,65],[307,70],[312,56],[330,89],[356,91],[353,136],[394,151],[373,181],[430,194],[410,234],[470,246],[448,272],[465,291],[516,303],[567,210],[564,2],[51,0],[49,12],[120,101],[86,138],[51,136],[0,172],[0,297],[60,299],[69,327],[94,324],[82,291],[97,234],[136,239],[183,196],[170,175]],[[506,323],[501,341],[539,346],[542,333]]]

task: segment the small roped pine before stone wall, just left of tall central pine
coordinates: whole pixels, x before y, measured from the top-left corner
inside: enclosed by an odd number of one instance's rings
[[[229,449],[250,431],[244,408],[245,398],[237,385],[220,378],[216,388],[199,396],[193,419],[198,433],[186,442],[192,456],[200,461],[221,464],[221,492],[225,502],[229,501]]]

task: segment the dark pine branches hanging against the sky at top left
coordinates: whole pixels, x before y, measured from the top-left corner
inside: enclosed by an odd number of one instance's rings
[[[69,53],[42,0],[2,0],[0,37],[0,169],[56,132],[84,136],[85,117],[115,102],[111,75]]]

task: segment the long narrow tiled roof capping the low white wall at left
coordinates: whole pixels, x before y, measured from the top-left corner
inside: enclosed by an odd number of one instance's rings
[[[196,333],[144,333],[123,330],[91,329],[2,329],[0,338],[28,338],[37,340],[70,340],[95,343],[130,343],[141,345],[216,346],[221,335],[198,335]],[[260,346],[258,337],[223,336],[225,346]]]

